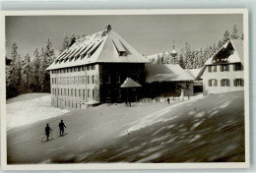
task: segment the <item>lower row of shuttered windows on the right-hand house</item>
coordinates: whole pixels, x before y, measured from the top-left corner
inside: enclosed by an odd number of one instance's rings
[[[230,87],[230,80],[229,79],[223,79],[220,81],[221,87]],[[208,81],[209,87],[218,87],[218,80],[211,79]],[[233,80],[233,87],[243,87],[243,79],[234,79]]]

